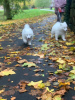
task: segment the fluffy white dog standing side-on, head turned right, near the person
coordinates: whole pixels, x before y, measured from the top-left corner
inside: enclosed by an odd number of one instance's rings
[[[58,37],[61,36],[62,39],[66,41],[65,39],[66,31],[67,31],[66,22],[63,22],[63,23],[56,22],[51,30],[51,38],[53,37],[53,34],[55,34],[56,40],[58,40]]]

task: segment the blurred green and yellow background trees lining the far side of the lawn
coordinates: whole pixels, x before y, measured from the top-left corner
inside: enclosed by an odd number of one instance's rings
[[[50,1],[51,0],[0,0],[0,4],[3,5],[4,15],[6,16],[7,20],[9,20],[22,9],[33,7],[49,8]]]

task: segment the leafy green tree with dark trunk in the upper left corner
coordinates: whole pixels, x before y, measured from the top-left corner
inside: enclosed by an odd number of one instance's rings
[[[12,19],[15,14],[17,14],[20,10],[20,2],[23,2],[25,6],[25,2],[30,0],[0,0],[0,4],[4,7],[4,15],[7,20]]]

